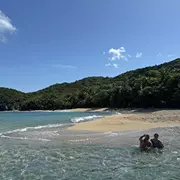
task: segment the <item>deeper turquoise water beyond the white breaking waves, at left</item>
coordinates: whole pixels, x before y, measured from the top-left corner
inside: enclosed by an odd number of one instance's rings
[[[74,120],[91,120],[110,113],[92,112],[0,112],[0,133],[10,130],[46,125],[64,125]]]

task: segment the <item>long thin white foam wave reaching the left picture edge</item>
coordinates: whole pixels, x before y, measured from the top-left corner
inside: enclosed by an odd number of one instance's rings
[[[48,125],[43,125],[43,126],[35,126],[35,127],[25,127],[25,128],[21,128],[21,129],[15,129],[12,131],[7,131],[4,133],[0,133],[0,136],[2,137],[2,135],[5,134],[11,134],[11,133],[17,133],[17,132],[25,132],[28,130],[37,130],[37,129],[44,129],[44,128],[56,128],[56,127],[62,127],[65,126],[67,124],[48,124]]]

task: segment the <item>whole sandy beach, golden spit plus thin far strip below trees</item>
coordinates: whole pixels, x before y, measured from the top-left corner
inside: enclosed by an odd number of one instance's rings
[[[76,108],[64,110],[1,111],[1,112],[112,112],[112,115],[95,120],[74,123],[68,130],[114,132],[147,130],[158,127],[180,126],[178,109],[142,109],[142,108]],[[113,113],[114,112],[114,113]]]

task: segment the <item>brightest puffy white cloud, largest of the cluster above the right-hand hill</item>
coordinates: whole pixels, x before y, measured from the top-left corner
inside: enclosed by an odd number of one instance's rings
[[[125,56],[123,55],[126,52],[124,47],[120,47],[118,49],[114,49],[111,48],[109,50],[109,54],[110,54],[110,59],[112,61],[116,60],[116,59],[127,59],[125,58]]]

